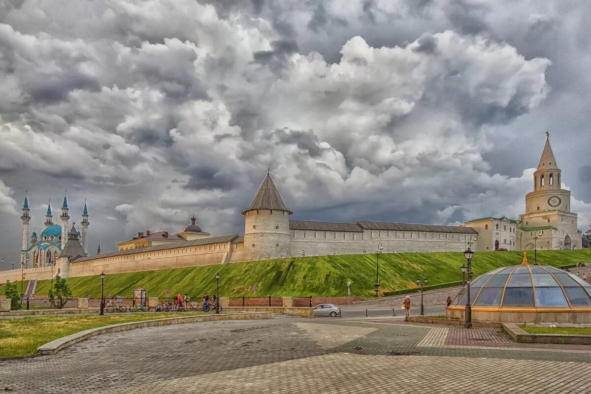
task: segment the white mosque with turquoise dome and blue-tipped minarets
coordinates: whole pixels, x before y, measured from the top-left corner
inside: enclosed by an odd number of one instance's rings
[[[71,238],[68,232],[70,221],[68,211],[67,196],[64,193],[61,215],[59,217],[60,224],[54,224],[53,222],[50,201],[47,204],[45,228],[39,236],[37,236],[37,231],[35,230],[29,236],[29,221],[31,220],[31,216],[29,215],[28,197],[25,195],[21,209],[21,263],[24,263],[25,268],[50,267],[56,264],[57,258],[60,257],[61,252],[66,248],[66,242]],[[82,221],[80,221],[82,232],[76,231],[77,238],[80,239],[85,255],[87,254],[88,228],[90,225],[88,218],[88,206],[85,201],[84,208],[82,209]]]

